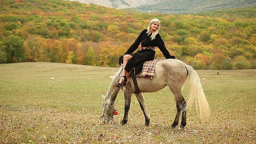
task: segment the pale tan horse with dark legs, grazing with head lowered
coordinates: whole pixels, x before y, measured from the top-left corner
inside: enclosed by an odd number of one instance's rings
[[[140,104],[140,108],[145,116],[145,125],[148,126],[150,123],[150,118],[148,116],[146,102],[142,92],[156,92],[165,86],[169,87],[176,100],[177,113],[174,122],[171,125],[173,128],[178,125],[180,114],[182,114],[180,128],[183,130],[184,126],[186,126],[186,110],[187,108],[191,107],[194,101],[196,103],[196,110],[200,116],[200,119],[202,121],[210,119],[210,108],[200,83],[200,78],[192,66],[189,66],[176,59],[159,60],[156,63],[155,76],[152,78],[152,80],[146,78],[137,78],[138,87],[141,91],[139,93],[136,93],[134,82],[130,77],[128,78],[126,86],[123,88],[114,86],[114,84],[119,81],[121,74],[122,65],[118,72],[114,75],[106,96],[102,95],[104,100],[102,104],[102,118],[104,119],[105,124],[109,124],[110,120],[113,120],[113,115],[115,112],[115,100],[118,92],[120,89],[122,89],[124,91],[125,105],[124,118],[120,124],[127,123],[132,94],[135,94]],[[186,102],[182,95],[182,89],[187,78],[190,80],[190,93]]]

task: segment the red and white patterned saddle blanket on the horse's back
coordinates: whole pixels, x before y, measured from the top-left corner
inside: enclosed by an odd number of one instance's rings
[[[143,64],[142,71],[136,75],[137,78],[148,78],[152,79],[155,76],[156,62],[159,60],[145,61]]]

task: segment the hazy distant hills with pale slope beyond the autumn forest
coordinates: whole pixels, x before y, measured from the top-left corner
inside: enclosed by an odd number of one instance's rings
[[[256,0],[70,0],[110,8],[131,8],[144,13],[191,14],[213,10],[256,7]]]

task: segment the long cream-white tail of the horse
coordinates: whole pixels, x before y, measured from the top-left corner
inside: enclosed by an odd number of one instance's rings
[[[186,68],[188,70],[187,77],[189,78],[189,81],[190,81],[190,93],[186,100],[185,110],[187,110],[187,108],[191,108],[193,102],[195,101],[196,102],[196,112],[200,116],[200,119],[202,121],[210,120],[210,116],[211,116],[210,107],[206,100],[204,90],[203,90],[201,82],[200,82],[200,78],[199,78],[196,70],[194,70],[194,68],[192,68],[192,66],[187,65]]]

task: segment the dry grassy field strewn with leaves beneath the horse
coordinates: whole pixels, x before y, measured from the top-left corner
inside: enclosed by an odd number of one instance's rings
[[[124,114],[122,91],[119,114],[112,124],[102,124],[101,94],[117,70],[40,62],[0,65],[0,144],[256,143],[256,70],[198,70],[212,117],[200,122],[191,108],[184,131],[170,127],[176,107],[167,87],[144,93],[150,126],[144,126],[135,96],[128,123],[118,124]],[[188,92],[187,83],[185,98]]]

